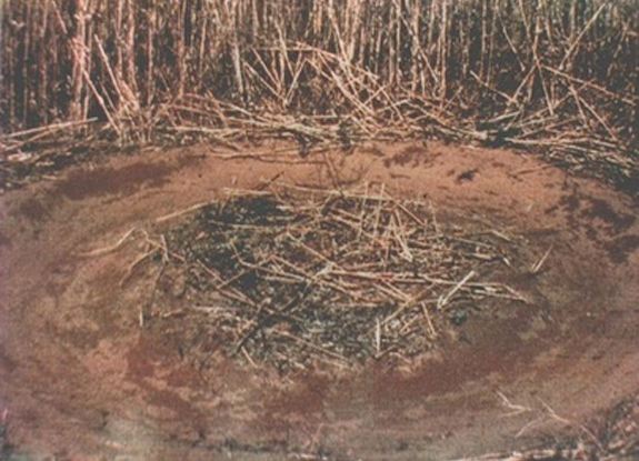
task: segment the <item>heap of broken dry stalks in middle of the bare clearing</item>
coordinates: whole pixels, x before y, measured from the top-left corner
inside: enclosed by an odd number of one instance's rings
[[[410,360],[489,299],[527,302],[487,280],[516,270],[513,240],[368,189],[233,190],[201,206],[162,235],[144,327],[190,357],[223,351],[287,372]]]

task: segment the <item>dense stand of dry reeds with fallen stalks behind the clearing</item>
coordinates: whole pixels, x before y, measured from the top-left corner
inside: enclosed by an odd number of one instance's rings
[[[1,9],[9,147],[79,127],[124,144],[281,134],[304,150],[439,134],[543,148],[626,177],[636,168],[633,0],[4,0]]]

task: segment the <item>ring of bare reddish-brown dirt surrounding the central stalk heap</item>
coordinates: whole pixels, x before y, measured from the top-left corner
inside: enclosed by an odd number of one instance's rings
[[[586,437],[580,424],[639,390],[639,222],[627,197],[501,150],[369,144],[310,161],[284,151],[143,152],[1,198],[0,412],[17,451],[33,460],[452,459]],[[541,308],[467,322],[422,367],[280,379],[217,355],[196,368],[140,328],[152,280],[120,283],[139,238],[81,255],[280,173],[306,186],[383,182],[447,219],[522,237],[539,257],[552,245],[535,283],[512,280]],[[526,409],[509,414],[500,394]]]

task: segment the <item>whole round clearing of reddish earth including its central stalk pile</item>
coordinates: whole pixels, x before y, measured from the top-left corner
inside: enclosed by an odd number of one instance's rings
[[[36,457],[446,459],[579,435],[637,390],[628,198],[506,151],[283,150],[116,158],[2,198],[11,443]],[[254,220],[237,209],[257,199]],[[268,245],[251,247],[257,227]],[[326,304],[346,317],[312,318]]]

